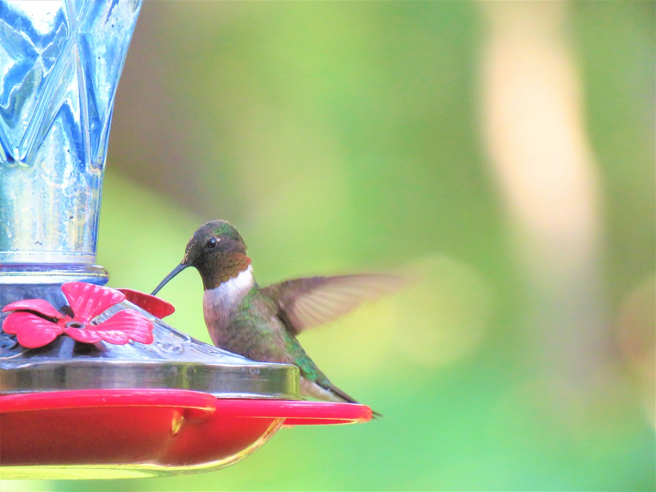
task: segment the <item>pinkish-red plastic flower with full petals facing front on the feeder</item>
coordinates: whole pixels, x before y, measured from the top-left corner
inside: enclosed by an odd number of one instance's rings
[[[3,308],[3,311],[13,311],[3,321],[3,331],[16,335],[18,343],[26,348],[47,345],[62,333],[85,343],[101,340],[117,345],[129,340],[153,342],[152,321],[134,310],[119,311],[102,323],[91,321],[107,308],[123,302],[123,293],[84,282],[64,283],[62,292],[73,317],[60,313],[43,299],[18,300]]]

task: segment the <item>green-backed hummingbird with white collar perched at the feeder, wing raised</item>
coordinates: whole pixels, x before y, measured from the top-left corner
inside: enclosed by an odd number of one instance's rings
[[[203,281],[203,316],[216,346],[256,361],[297,365],[303,398],[358,403],[317,367],[297,335],[339,318],[367,299],[391,293],[400,277],[306,277],[260,287],[237,229],[225,220],[212,220],[194,232],[182,261],[152,295],[190,266]]]

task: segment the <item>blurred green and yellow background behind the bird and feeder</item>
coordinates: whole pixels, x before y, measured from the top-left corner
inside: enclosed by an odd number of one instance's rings
[[[230,220],[260,285],[423,273],[301,342],[384,414],[195,476],[3,491],[653,491],[655,3],[146,2],[98,263]],[[209,342],[199,277],[161,292]]]

